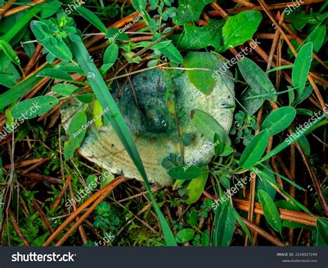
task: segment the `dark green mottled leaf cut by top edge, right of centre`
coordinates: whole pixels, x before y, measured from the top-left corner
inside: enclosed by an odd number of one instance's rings
[[[190,21],[197,21],[201,17],[203,8],[212,3],[213,0],[179,0],[176,8],[176,16],[173,18],[174,24],[183,25]]]

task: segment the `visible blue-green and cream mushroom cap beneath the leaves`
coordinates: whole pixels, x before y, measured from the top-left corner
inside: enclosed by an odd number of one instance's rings
[[[202,166],[210,161],[214,150],[210,150],[212,147],[210,141],[201,136],[192,125],[190,111],[193,109],[205,111],[215,118],[226,132],[229,132],[233,123],[233,109],[230,107],[235,105],[235,100],[233,80],[229,78],[232,75],[228,72],[226,74],[218,77],[210,95],[204,95],[194,87],[184,71],[168,79],[165,71],[160,69],[151,69],[135,75],[131,80],[134,90],[129,83],[122,89],[121,87],[114,89],[113,96],[119,95],[116,102],[134,135],[136,147],[150,182],[162,186],[172,185],[173,179],[167,175],[162,161],[170,153],[181,152],[180,143],[176,143],[173,138],[177,134],[177,128],[175,120],[172,122],[167,111],[167,90],[174,89],[181,134],[192,134],[192,143],[183,147],[185,163],[192,161],[193,165]],[[71,116],[81,105],[79,102],[71,101],[62,107],[65,129],[69,126]],[[92,117],[89,114],[89,120],[92,120]],[[110,124],[100,129],[95,125],[88,127],[78,152],[113,174],[122,174],[143,181]]]

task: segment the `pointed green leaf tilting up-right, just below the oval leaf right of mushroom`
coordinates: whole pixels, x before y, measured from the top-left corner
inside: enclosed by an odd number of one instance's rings
[[[261,159],[262,154],[266,150],[266,145],[268,145],[268,131],[264,129],[247,145],[242,153],[242,157],[240,157],[239,166],[247,169],[252,168]]]

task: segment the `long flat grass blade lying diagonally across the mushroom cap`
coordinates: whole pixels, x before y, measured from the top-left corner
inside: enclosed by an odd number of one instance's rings
[[[161,224],[161,228],[167,246],[176,246],[176,241],[174,239],[174,235],[170,229],[170,226],[167,223],[158,204],[156,203],[154,195],[152,195],[147,174],[145,172],[145,168],[143,167],[143,162],[140,159],[140,155],[136,148],[136,145],[134,144],[133,136],[130,132],[129,127],[127,127],[127,124],[125,123],[125,120],[122,114],[120,113],[116,102],[113,100],[111,93],[109,93],[109,90],[107,89],[107,84],[102,79],[102,76],[100,75],[95,64],[90,60],[89,52],[86,50],[82,39],[76,40],[76,42],[71,42],[71,48],[73,55],[76,57],[76,60],[78,60],[78,63],[82,67],[83,71],[86,73],[89,84],[91,85],[91,89],[93,89],[93,92],[95,93],[96,98],[100,102],[102,109],[107,109],[107,107],[109,108],[109,113],[107,113],[106,116],[110,120],[111,126],[115,130],[116,134],[118,134],[122,145],[125,147],[125,150],[127,150],[127,153],[131,157],[132,161],[134,161],[136,168],[138,168],[140,175],[145,181],[145,186],[149,193],[149,197],[152,200],[152,204],[154,206],[156,214],[158,215],[158,219]]]

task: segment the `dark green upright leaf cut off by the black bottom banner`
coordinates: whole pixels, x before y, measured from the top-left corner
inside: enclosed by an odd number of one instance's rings
[[[228,247],[233,239],[233,231],[235,230],[235,208],[231,206],[230,202],[226,202],[222,205],[221,211],[216,209],[215,213],[220,214],[213,233],[213,246]]]

